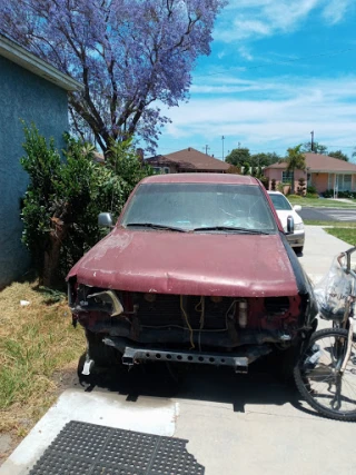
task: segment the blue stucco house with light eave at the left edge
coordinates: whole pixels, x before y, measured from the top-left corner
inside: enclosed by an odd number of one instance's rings
[[[60,148],[68,130],[68,91],[81,86],[0,33],[0,288],[29,265],[21,244],[20,199],[28,176],[20,165],[23,126],[33,122]]]

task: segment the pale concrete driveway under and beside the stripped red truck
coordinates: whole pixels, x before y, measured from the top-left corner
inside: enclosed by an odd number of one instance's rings
[[[300,261],[317,280],[345,249],[345,243],[308,227]],[[236,376],[200,367],[178,389],[166,377],[155,368],[144,377],[112,375],[86,392],[68,389],[0,474],[28,473],[70,419],[188,439],[187,448],[206,475],[355,474],[355,425],[319,417],[294,386],[257,370]]]

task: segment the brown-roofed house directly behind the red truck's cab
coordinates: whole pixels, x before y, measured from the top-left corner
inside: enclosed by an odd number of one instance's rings
[[[201,151],[191,147],[174,154],[157,155],[145,159],[145,161],[154,168],[156,174],[225,174],[230,168],[229,164],[201,154]]]

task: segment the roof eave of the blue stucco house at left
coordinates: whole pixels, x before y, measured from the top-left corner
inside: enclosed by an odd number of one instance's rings
[[[0,56],[21,66],[23,69],[31,71],[67,91],[82,89],[82,85],[53,66],[43,61],[36,55],[22,48],[19,43],[0,32]]]

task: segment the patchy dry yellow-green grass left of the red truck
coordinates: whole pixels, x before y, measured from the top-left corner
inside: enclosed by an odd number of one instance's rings
[[[71,326],[66,296],[36,281],[0,291],[0,432],[23,437],[56,400],[66,373],[76,375],[85,336]]]

